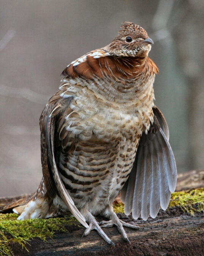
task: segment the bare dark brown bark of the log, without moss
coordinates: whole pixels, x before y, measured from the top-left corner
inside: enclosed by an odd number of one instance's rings
[[[105,243],[95,231],[82,238],[84,228],[67,226],[69,233],[56,233],[54,241],[47,239],[47,242],[42,242],[37,238],[32,240],[27,247],[29,253],[20,246],[13,245],[14,255],[204,255],[204,218],[201,213],[190,216],[175,207],[168,211],[160,210],[157,218],[148,218],[147,221],[134,221],[124,214],[118,215],[122,220],[140,226],[140,230],[126,228],[131,245],[122,240],[116,227],[104,229],[115,243],[113,247]],[[100,218],[98,220],[100,221]]]

